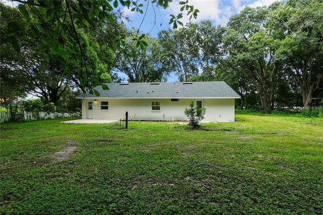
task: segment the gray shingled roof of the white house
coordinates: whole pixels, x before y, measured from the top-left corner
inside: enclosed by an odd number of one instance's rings
[[[94,87],[102,98],[240,98],[224,81],[105,83],[109,90]],[[76,98],[95,98],[89,92]]]

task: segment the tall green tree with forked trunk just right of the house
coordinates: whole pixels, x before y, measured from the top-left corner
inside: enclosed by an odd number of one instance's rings
[[[223,39],[227,56],[222,65],[247,79],[259,92],[264,113],[271,112],[270,81],[281,69],[275,61],[276,42],[267,28],[268,13],[277,7],[245,8],[232,16]]]

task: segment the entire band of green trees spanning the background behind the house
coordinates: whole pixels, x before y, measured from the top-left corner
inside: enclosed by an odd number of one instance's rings
[[[167,81],[170,74],[179,81],[224,80],[241,96],[238,106],[264,113],[323,105],[323,0],[246,7],[226,27],[205,20],[162,30],[158,38],[126,29],[121,13],[100,15],[102,6],[89,1],[37,3],[0,4],[3,103],[28,93],[60,106],[66,93],[120,82],[121,72],[129,82]]]

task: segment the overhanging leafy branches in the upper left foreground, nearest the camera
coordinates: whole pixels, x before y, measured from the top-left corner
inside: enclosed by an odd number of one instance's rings
[[[149,1],[149,0],[145,0]],[[137,4],[137,1],[131,0],[115,0],[111,1],[74,1],[74,0],[50,0],[50,1],[22,1],[19,2],[18,9],[25,18],[24,21],[8,22],[8,35],[10,44],[19,52],[21,51],[19,34],[30,25],[30,31],[34,38],[40,41],[39,51],[50,51],[53,55],[57,55],[58,60],[65,61],[71,58],[78,62],[81,71],[85,70],[82,75],[81,85],[85,88],[92,88],[99,84],[97,79],[91,78],[88,74],[88,65],[84,47],[82,47],[82,39],[78,29],[91,29],[91,31],[102,31],[104,26],[114,19],[113,11],[119,7],[127,7],[132,11],[143,13],[143,4]],[[152,0],[151,3],[157,7],[168,8],[171,0]],[[188,1],[180,2],[182,5],[181,12],[187,11],[191,17],[197,16],[198,10],[194,10],[193,6],[188,5]],[[170,24],[177,27],[181,22],[178,20],[182,17],[182,13],[177,15],[176,19],[172,19]],[[190,18],[191,18],[190,17]],[[17,36],[14,36],[17,35]],[[144,35],[138,35],[135,38],[137,46],[143,48],[146,45],[142,39]],[[121,37],[120,40],[124,40]],[[117,43],[117,44],[120,44]],[[64,75],[69,76],[71,68],[66,67]],[[104,85],[102,85],[103,87]],[[95,94],[98,92],[93,91]]]

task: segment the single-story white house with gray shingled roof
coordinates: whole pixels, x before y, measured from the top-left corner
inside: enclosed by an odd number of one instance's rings
[[[82,119],[151,121],[185,121],[190,101],[206,108],[206,121],[234,122],[234,99],[240,96],[224,81],[105,83],[109,90],[98,90],[100,96],[89,92],[82,99]]]

